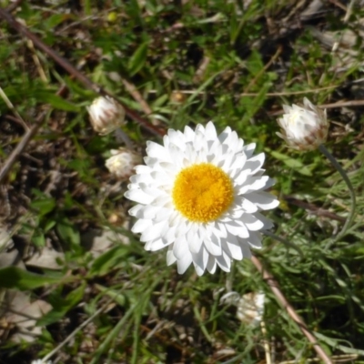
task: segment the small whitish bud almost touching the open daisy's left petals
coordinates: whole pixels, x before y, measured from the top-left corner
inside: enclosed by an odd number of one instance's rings
[[[120,147],[110,150],[111,157],[106,159],[106,168],[119,179],[127,179],[133,173],[134,168],[142,163],[142,157],[130,149]]]

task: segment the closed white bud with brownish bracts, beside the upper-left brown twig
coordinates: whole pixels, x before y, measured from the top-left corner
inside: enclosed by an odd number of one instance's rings
[[[92,127],[102,136],[124,124],[125,109],[112,97],[97,97],[87,111]]]

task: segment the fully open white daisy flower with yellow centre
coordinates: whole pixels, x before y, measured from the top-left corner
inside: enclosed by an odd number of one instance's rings
[[[193,263],[201,276],[217,266],[228,272],[232,259],[261,248],[261,231],[273,224],[260,211],[279,203],[264,191],[274,181],[254,149],[230,127],[217,136],[212,122],[169,129],[163,146],[147,142],[147,166],[136,167],[125,195],[137,203],[132,231],[146,250],[167,247],[167,265],[177,262],[182,274]]]

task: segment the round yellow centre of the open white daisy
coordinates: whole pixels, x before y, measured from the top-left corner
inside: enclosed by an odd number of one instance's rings
[[[216,220],[227,210],[234,199],[234,187],[221,168],[201,163],[179,172],[172,198],[184,217],[205,223]]]

